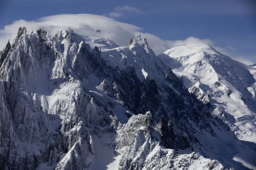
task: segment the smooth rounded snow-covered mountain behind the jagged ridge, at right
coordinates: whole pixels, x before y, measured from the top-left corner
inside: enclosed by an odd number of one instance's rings
[[[236,136],[256,142],[255,68],[232,60],[204,44],[178,46],[160,58],[182,78],[199,100],[230,125]],[[209,100],[204,101],[204,96]],[[224,114],[223,114],[224,113]]]

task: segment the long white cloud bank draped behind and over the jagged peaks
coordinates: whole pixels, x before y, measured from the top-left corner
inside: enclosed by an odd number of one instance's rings
[[[60,14],[42,17],[35,21],[16,20],[12,24],[4,26],[4,29],[0,29],[0,49],[3,49],[8,39],[11,42],[14,40],[20,26],[26,26],[27,32],[41,27],[50,35],[54,35],[58,30],[68,29],[70,27],[78,34],[108,38],[119,46],[127,46],[131,38],[141,34],[142,37],[147,38],[149,45],[156,54],[174,46],[186,44],[205,43],[214,45],[214,42],[211,40],[201,40],[196,37],[189,37],[185,40],[163,40],[160,37],[143,32],[143,29],[140,27],[122,23],[102,15]],[[102,32],[96,32],[97,29],[100,29]]]

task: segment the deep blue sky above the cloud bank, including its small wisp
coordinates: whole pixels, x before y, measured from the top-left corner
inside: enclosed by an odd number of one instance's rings
[[[256,0],[0,0],[0,29],[15,20],[97,14],[166,40],[209,39],[229,55],[256,62]]]

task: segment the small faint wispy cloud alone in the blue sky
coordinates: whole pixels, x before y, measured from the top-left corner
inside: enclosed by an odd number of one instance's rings
[[[129,13],[140,13],[140,12],[141,12],[140,9],[137,9],[132,6],[117,6],[113,10],[113,12],[110,12],[104,15],[111,18],[120,18],[120,17],[125,17],[125,15]]]

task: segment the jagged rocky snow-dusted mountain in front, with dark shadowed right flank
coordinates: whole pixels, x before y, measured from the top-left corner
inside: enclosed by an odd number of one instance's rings
[[[0,61],[0,169],[256,168],[140,36],[117,47],[23,27]]]

